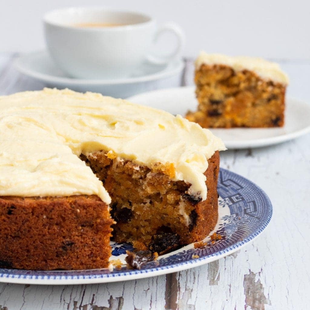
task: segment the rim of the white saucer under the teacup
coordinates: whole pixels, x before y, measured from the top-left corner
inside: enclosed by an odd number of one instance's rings
[[[133,84],[133,83],[140,83],[140,82],[156,81],[162,78],[173,76],[181,72],[185,66],[185,62],[183,59],[177,59],[177,60],[173,60],[170,63],[168,63],[167,67],[158,71],[157,73],[143,75],[143,76],[135,77],[135,78],[117,78],[117,79],[63,78],[63,77],[55,77],[54,75],[48,75],[45,73],[40,73],[38,71],[25,68],[25,66],[23,65],[23,59],[30,57],[30,56],[34,56],[34,55],[40,55],[40,54],[45,54],[47,57],[50,57],[46,50],[33,51],[30,53],[18,55],[13,60],[13,66],[20,73],[28,77],[35,78],[39,81],[43,81],[47,83],[57,83],[57,84],[70,84],[70,85],[75,85],[75,86],[78,86],[78,85],[104,86],[104,85]],[[173,65],[173,67],[170,68],[169,65],[171,66]]]

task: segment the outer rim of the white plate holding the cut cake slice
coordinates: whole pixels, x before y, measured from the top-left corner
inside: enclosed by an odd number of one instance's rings
[[[169,91],[177,91],[182,89],[182,91],[194,91],[195,90],[195,86],[194,85],[189,85],[189,86],[180,86],[180,87],[171,87],[171,88],[164,88],[164,89],[157,89],[157,90],[153,90],[153,91],[145,91],[143,93],[139,93],[139,94],[135,94],[132,95],[130,97],[127,97],[126,100],[134,102],[134,97],[138,97],[140,95],[151,95],[151,94],[155,94],[157,92],[169,92]],[[133,98],[133,99],[131,99]],[[292,100],[295,102],[300,102],[302,104],[307,104],[307,101],[304,101],[302,99],[298,99],[298,98],[294,98],[294,97],[286,97],[286,100]],[[308,104],[309,105],[309,104]],[[215,129],[224,129],[224,128],[210,128],[210,130],[215,130]],[[242,129],[242,128],[228,128],[227,130],[234,130],[234,129]],[[249,129],[249,128],[244,128],[244,129]],[[254,128],[254,129],[269,129],[269,128]],[[309,118],[309,124],[308,126],[299,129],[297,131],[294,132],[290,132],[287,134],[281,134],[278,136],[273,136],[273,137],[267,137],[267,138],[259,138],[259,139],[253,139],[250,141],[238,141],[238,140],[224,140],[223,142],[225,144],[225,146],[228,149],[244,149],[244,148],[259,148],[259,147],[263,147],[263,146],[270,146],[270,145],[274,145],[274,144],[279,144],[282,142],[286,142],[295,138],[298,138],[302,135],[305,135],[307,133],[310,132],[310,118]],[[215,133],[216,135],[216,133]]]

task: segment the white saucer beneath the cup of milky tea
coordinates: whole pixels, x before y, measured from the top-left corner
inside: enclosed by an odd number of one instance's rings
[[[167,65],[146,63],[130,77],[122,79],[76,79],[68,77],[58,69],[47,51],[22,55],[15,60],[14,65],[19,72],[44,82],[48,87],[68,87],[75,91],[93,91],[121,98],[167,85],[177,86],[184,68],[182,60],[175,60]]]

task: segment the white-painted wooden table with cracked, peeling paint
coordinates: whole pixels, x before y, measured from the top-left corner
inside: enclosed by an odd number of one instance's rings
[[[0,94],[41,89],[43,84],[15,72],[13,57],[0,54]],[[281,66],[291,79],[288,95],[310,104],[310,61],[281,61]],[[192,84],[192,79],[193,65],[187,60],[182,84]],[[309,309],[310,135],[222,152],[221,166],[255,182],[272,201],[271,223],[252,244],[201,267],[136,281],[0,283],[0,310]]]

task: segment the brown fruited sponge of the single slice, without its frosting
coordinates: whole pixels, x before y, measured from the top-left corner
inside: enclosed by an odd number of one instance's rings
[[[279,127],[284,124],[286,86],[253,71],[203,64],[195,72],[196,112],[186,118],[202,127]]]

